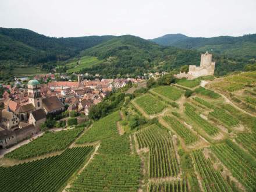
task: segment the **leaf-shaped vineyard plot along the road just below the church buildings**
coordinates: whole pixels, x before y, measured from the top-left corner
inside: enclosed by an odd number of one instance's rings
[[[49,152],[64,150],[84,130],[83,127],[62,130],[56,133],[48,132],[30,143],[17,148],[5,155],[6,158],[27,159],[47,154]]]

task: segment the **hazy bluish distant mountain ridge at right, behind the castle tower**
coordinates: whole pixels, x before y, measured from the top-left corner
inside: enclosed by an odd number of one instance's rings
[[[241,37],[187,37],[182,34],[168,34],[154,38],[151,41],[159,45],[169,45],[178,48],[197,49],[198,51],[211,51],[215,54],[236,56],[240,58],[256,57],[256,34]]]

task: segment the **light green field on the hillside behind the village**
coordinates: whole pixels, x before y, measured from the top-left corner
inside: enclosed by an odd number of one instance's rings
[[[77,64],[78,62],[80,62],[79,64]],[[102,63],[101,60],[98,60],[97,57],[95,56],[83,56],[77,60],[74,60],[70,63],[67,63],[67,73],[73,73],[73,72],[79,72],[81,69],[87,68],[87,67],[91,67],[93,65],[98,65]]]

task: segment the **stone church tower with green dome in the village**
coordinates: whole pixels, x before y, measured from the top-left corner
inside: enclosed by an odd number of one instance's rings
[[[30,80],[27,83],[27,94],[29,97],[29,103],[33,104],[36,109],[42,108],[42,97],[40,93],[40,83],[38,80]]]

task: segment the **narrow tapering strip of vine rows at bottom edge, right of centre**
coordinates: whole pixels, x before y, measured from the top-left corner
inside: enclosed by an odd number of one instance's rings
[[[200,175],[204,191],[232,191],[229,184],[223,179],[221,173],[216,171],[209,159],[205,159],[201,150],[192,153],[195,167]]]

